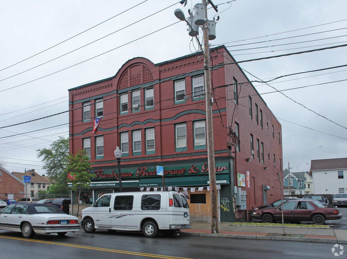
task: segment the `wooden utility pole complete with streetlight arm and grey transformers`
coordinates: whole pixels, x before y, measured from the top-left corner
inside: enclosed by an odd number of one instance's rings
[[[208,0],[213,8],[217,10],[217,7],[213,5],[211,0]],[[209,179],[210,179],[210,193],[211,193],[211,233],[218,233],[218,195],[216,188],[216,177],[215,177],[215,162],[214,162],[214,144],[213,144],[213,125],[212,125],[212,91],[211,91],[211,75],[210,75],[210,47],[209,38],[211,40],[215,39],[213,33],[209,35],[209,27],[212,29],[215,25],[214,20],[209,21],[207,19],[207,8],[206,0],[202,0],[202,4],[196,4],[194,6],[195,14],[200,14],[199,18],[195,15],[194,19],[191,16],[189,21],[186,20],[183,11],[181,9],[176,9],[174,11],[175,16],[182,21],[185,21],[191,28],[191,36],[197,36],[195,32],[197,28],[194,29],[193,20],[195,25],[202,26],[202,31],[204,34],[204,48],[202,48],[200,42],[197,40],[199,47],[204,56],[204,79],[205,79],[205,102],[206,102],[206,132],[207,132],[207,157],[209,165]],[[190,14],[190,12],[189,12]],[[212,30],[211,30],[212,31]],[[196,37],[197,38],[197,37]]]

